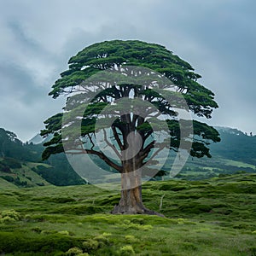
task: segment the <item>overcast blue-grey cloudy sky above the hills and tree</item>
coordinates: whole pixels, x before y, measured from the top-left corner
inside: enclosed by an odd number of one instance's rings
[[[67,61],[90,44],[161,44],[195,68],[219,108],[209,125],[256,134],[253,0],[0,0],[0,127],[26,142],[61,112],[48,96]]]

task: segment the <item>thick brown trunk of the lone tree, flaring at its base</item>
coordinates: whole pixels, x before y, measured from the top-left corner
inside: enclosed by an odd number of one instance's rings
[[[159,212],[148,210],[143,205],[142,198],[142,175],[139,171],[134,171],[131,164],[125,165],[125,171],[121,174],[121,198],[119,204],[113,207],[113,214],[150,214],[164,215]],[[130,172],[129,172],[130,171]]]

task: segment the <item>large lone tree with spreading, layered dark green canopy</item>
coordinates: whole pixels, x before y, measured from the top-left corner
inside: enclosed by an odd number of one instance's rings
[[[220,141],[218,131],[194,120],[192,134],[192,122],[179,118],[176,109],[183,98],[189,112],[209,119],[213,108],[218,108],[214,94],[197,82],[201,76],[188,62],[159,44],[135,40],[106,41],[86,47],[68,64],[69,69],[61,73],[61,78],[55,81],[49,92],[53,98],[68,97],[65,112],[44,122],[46,127],[41,135],[52,133],[54,137],[44,144],[47,148],[43,159],[63,152],[64,143],[68,145],[66,153],[70,149],[70,154],[94,155],[121,174],[121,198],[113,213],[158,214],[143,205],[142,177],[147,175],[143,172],[150,174],[154,170],[146,163],[166,145],[178,152],[183,144],[182,150],[188,149],[192,156],[211,157],[207,145],[210,141]],[[109,69],[114,73],[110,79]],[[102,75],[104,71],[106,73]],[[98,80],[93,79],[98,74]],[[102,80],[99,79],[101,75]],[[161,79],[164,79],[163,83]],[[172,90],[168,90],[170,84]],[[85,105],[84,92],[90,97],[90,102]],[[166,100],[170,94],[172,102]],[[81,109],[84,110],[81,112]],[[104,112],[104,109],[108,111]],[[108,113],[114,114],[109,117]],[[66,119],[65,125],[63,119]],[[102,119],[106,122],[101,122]],[[171,141],[164,137],[161,143],[157,143],[154,131],[163,130],[165,125]],[[108,157],[96,146],[100,131],[117,159]],[[189,143],[191,147],[186,148]],[[151,164],[156,162],[153,160]]]

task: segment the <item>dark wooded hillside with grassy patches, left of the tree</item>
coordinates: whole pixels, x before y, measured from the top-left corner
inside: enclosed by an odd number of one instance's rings
[[[22,143],[15,133],[0,128],[0,177],[21,187],[84,183],[69,165],[65,154],[52,155],[43,162],[43,150],[42,143]]]

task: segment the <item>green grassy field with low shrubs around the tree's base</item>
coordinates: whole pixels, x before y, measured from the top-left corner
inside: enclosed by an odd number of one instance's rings
[[[2,184],[2,183],[1,183]],[[5,255],[256,255],[256,175],[148,182],[166,218],[111,215],[119,193],[92,185],[0,189]]]

